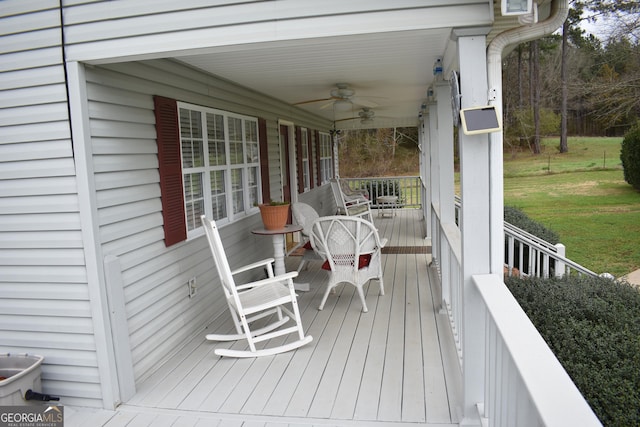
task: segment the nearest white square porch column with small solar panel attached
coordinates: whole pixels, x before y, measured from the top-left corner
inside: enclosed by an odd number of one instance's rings
[[[458,38],[462,108],[488,104],[486,38]],[[476,405],[484,402],[485,313],[472,275],[491,272],[490,144],[488,134],[460,129],[460,190],[463,275],[463,415],[461,425],[479,425]]]

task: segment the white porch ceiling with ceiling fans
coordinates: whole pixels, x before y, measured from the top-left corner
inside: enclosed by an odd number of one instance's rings
[[[334,121],[358,117],[364,106],[359,101],[375,104],[372,123],[338,121],[337,128],[416,126],[433,65],[445,54],[450,34],[451,28],[439,28],[288,40],[178,60],[292,105],[328,98],[337,83],[347,83],[355,90],[351,108],[321,101],[299,105]]]

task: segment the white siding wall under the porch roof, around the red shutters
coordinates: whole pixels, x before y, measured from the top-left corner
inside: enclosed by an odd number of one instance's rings
[[[200,333],[212,316],[226,315],[204,237],[170,248],[163,242],[153,95],[265,118],[272,195],[279,195],[281,185],[278,119],[310,129],[326,126],[170,60],[86,67],[86,80],[102,256],[119,260],[122,278],[111,281],[123,285],[139,382],[180,343]],[[315,192],[328,194],[322,188]],[[254,212],[222,228],[232,267],[272,251],[269,239],[251,234],[259,226]],[[186,284],[194,276],[198,293],[189,299]]]

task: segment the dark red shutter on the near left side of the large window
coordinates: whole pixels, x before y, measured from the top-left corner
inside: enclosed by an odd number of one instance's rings
[[[180,133],[178,131],[178,105],[174,99],[160,96],[154,97],[154,105],[164,243],[168,247],[187,238]]]

